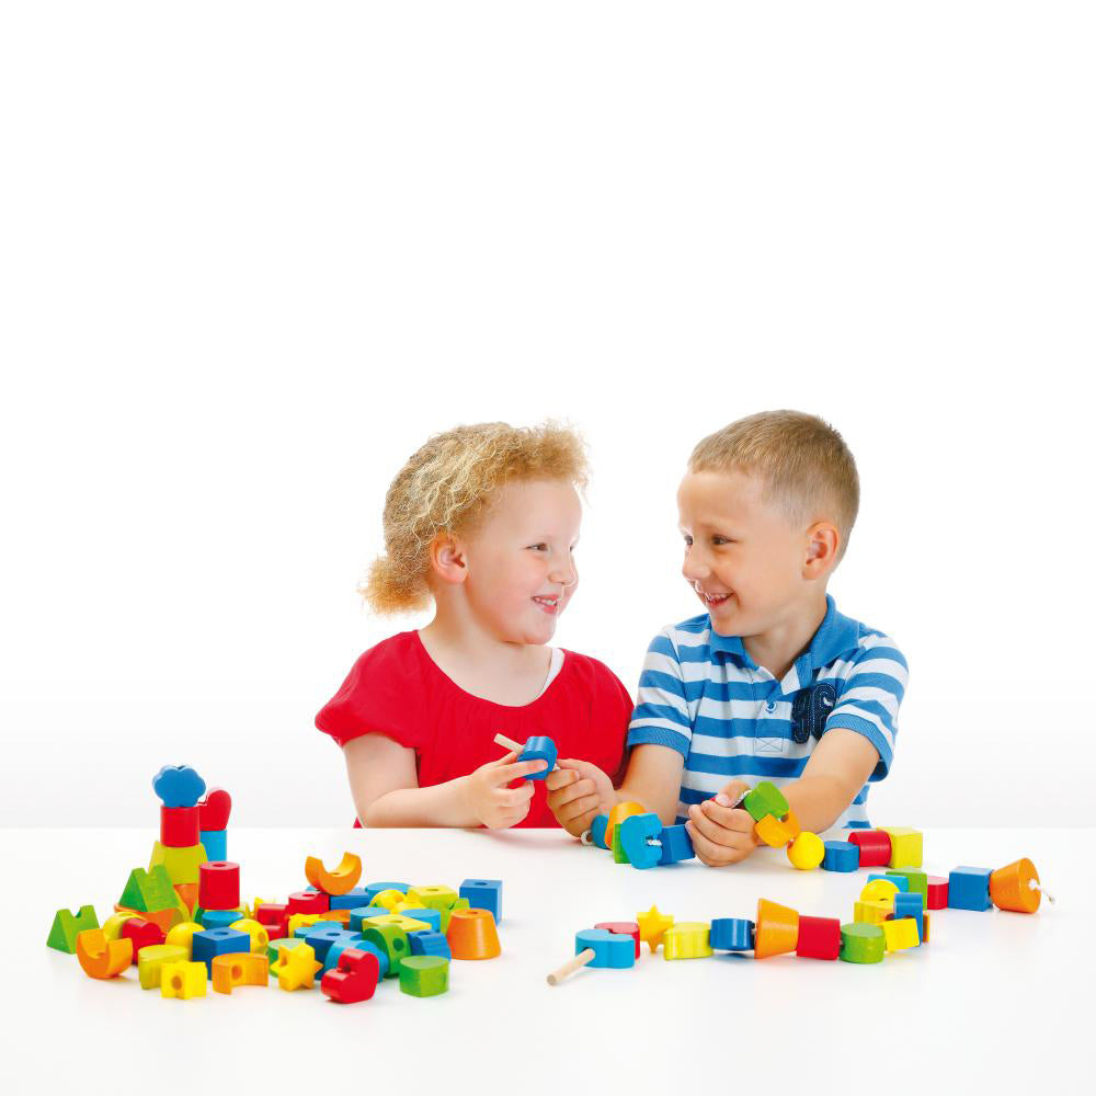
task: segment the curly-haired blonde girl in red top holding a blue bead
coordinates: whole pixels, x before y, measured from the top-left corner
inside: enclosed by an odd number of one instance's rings
[[[458,426],[392,481],[386,553],[362,593],[378,613],[433,602],[434,619],[366,651],[316,717],[345,755],[355,824],[558,826],[544,781],[522,779],[544,763],[500,756],[499,732],[546,734],[561,756],[619,769],[627,689],[596,659],[548,646],[578,584],[585,482],[581,439],[551,423]],[[587,790],[572,832],[597,812]]]

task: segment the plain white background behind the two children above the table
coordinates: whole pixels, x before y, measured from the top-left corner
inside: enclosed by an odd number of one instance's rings
[[[0,823],[353,817],[312,728],[385,490],[566,419],[560,644],[635,688],[698,612],[703,435],[821,414],[831,591],[911,665],[878,823],[1089,820],[1086,4],[0,9]]]

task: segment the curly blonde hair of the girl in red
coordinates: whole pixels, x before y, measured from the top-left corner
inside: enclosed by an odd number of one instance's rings
[[[541,479],[585,487],[585,445],[570,427],[484,422],[432,437],[388,489],[385,553],[369,568],[359,592],[375,613],[425,608],[434,538],[439,533],[473,533],[499,488]]]

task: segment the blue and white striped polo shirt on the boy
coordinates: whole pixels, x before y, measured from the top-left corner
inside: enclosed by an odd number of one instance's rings
[[[704,613],[652,640],[628,745],[653,742],[685,758],[678,822],[690,803],[729,780],[780,787],[797,779],[818,738],[834,727],[865,735],[879,752],[871,784],[890,768],[906,678],[893,640],[842,616],[829,594],[810,646],[779,682],[753,661],[740,637],[712,631]],[[865,785],[834,826],[869,826],[867,801]]]

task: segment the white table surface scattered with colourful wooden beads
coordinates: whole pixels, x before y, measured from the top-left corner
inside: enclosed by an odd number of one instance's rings
[[[350,1006],[274,983],[163,1000],[139,987],[136,968],[94,981],[47,948],[58,907],[91,903],[100,922],[113,912],[156,836],[0,831],[13,1043],[2,1064],[16,1078],[5,1092],[1092,1091],[1082,1078],[1094,1041],[1094,829],[925,831],[931,874],[1028,856],[1057,904],[1034,916],[934,912],[927,946],[876,966],[667,962],[644,945],[632,970],[583,970],[557,987],[545,975],[595,922],[633,921],[652,902],[678,921],[754,920],[761,897],[847,922],[867,871],[800,872],[768,849],[732,868],[638,871],[559,831],[230,830],[248,900],[284,901],[307,886],[306,856],[331,867],[344,849],[362,856],[363,882],[503,880],[499,959],[455,961],[444,996],[409,997],[388,980]]]

